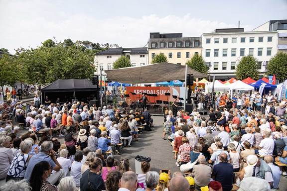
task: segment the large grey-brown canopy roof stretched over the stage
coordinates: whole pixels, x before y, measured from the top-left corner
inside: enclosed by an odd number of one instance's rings
[[[128,84],[185,80],[185,66],[167,62],[106,70],[105,72],[109,80]],[[206,74],[197,72],[189,67],[187,73],[193,74],[194,79],[207,77]]]

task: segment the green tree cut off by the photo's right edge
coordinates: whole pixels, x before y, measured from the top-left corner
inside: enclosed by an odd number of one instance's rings
[[[280,81],[287,79],[287,53],[286,52],[278,52],[275,56],[273,56],[266,69],[268,75],[276,75],[276,78]]]

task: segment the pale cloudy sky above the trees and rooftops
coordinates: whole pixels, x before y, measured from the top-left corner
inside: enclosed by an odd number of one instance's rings
[[[36,48],[46,39],[143,47],[149,32],[200,36],[250,31],[287,19],[287,0],[0,0],[0,48]]]

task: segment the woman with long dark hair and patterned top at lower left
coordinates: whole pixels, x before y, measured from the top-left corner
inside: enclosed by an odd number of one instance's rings
[[[28,181],[32,191],[58,191],[57,187],[48,181],[52,172],[52,166],[49,162],[40,161],[31,168],[33,171]]]

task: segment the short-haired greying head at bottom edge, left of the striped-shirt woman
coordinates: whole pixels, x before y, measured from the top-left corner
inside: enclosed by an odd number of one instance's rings
[[[137,174],[132,171],[123,173],[119,187],[118,191],[136,191],[138,188]]]

